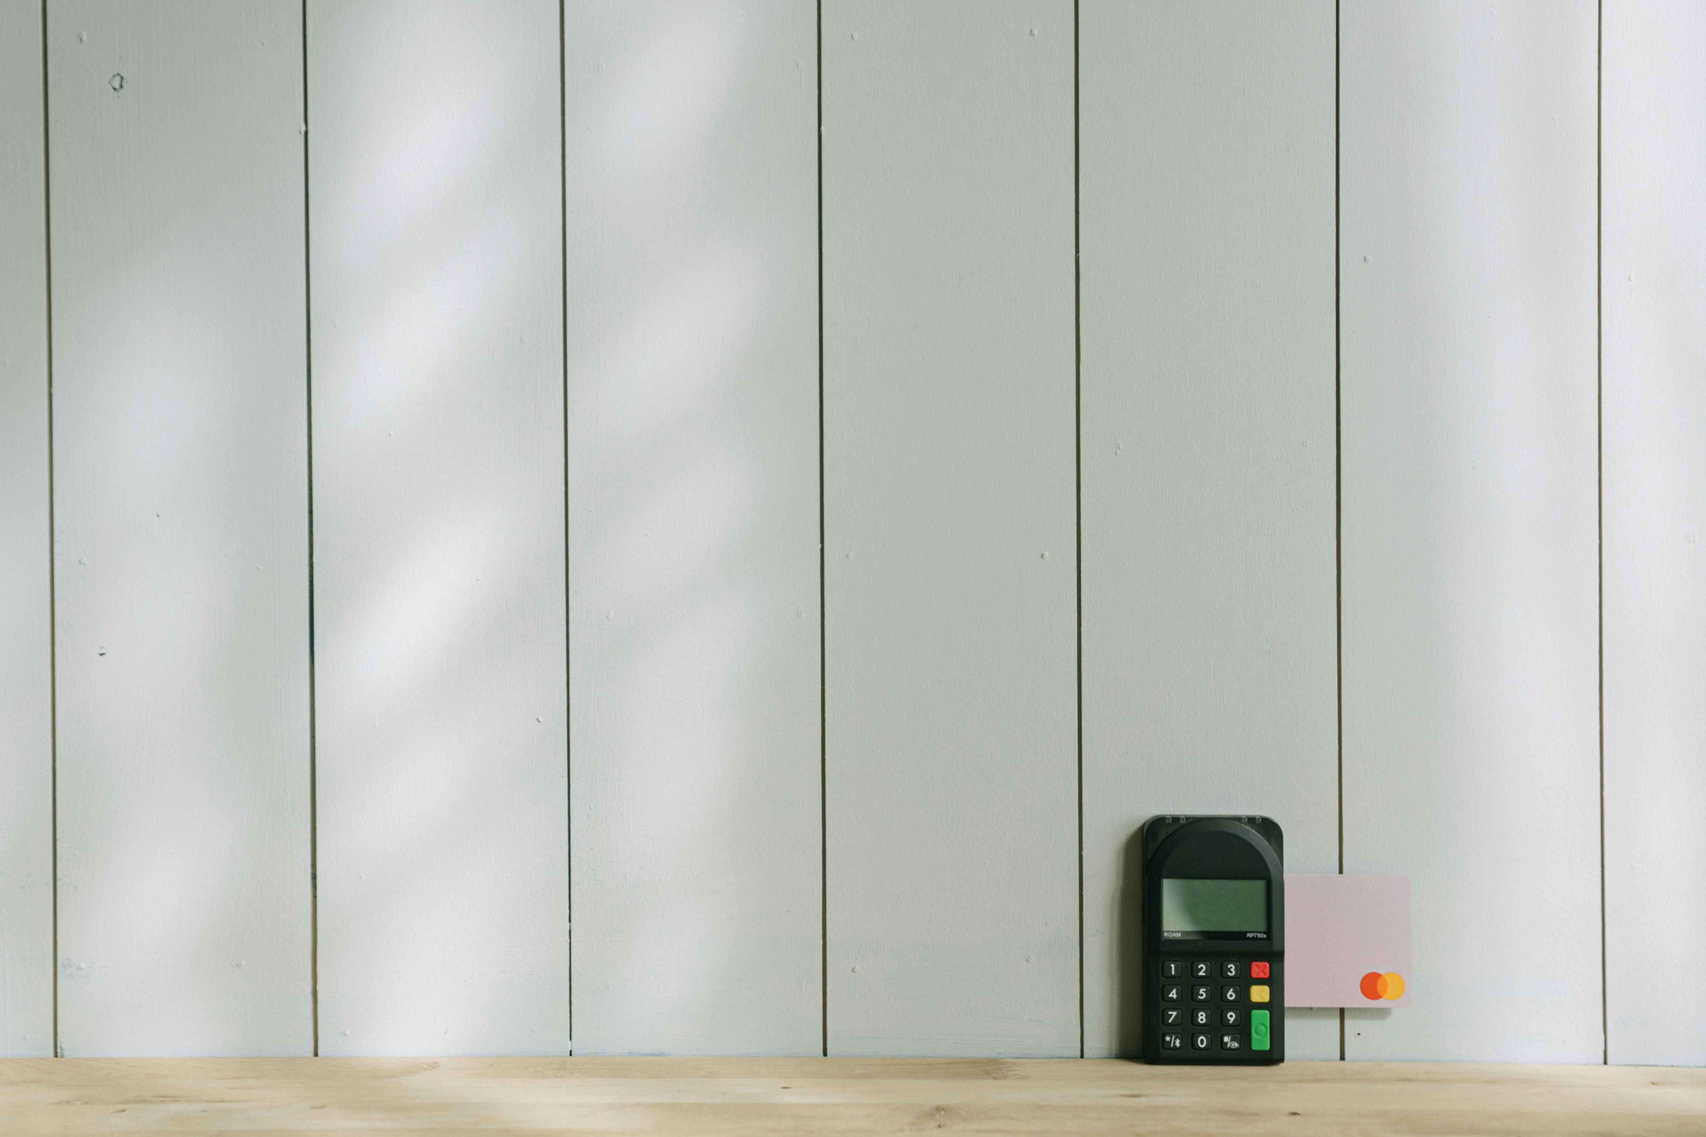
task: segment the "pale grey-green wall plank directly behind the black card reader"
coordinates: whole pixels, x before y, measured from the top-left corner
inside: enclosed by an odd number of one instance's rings
[[[1085,1052],[1141,1050],[1131,840],[1338,868],[1334,3],[1080,7]],[[1339,1057],[1288,1011],[1288,1057]]]

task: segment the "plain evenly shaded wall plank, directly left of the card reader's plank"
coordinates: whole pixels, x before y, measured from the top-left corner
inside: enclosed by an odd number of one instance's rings
[[[822,19],[829,1052],[1076,1055],[1073,10]]]

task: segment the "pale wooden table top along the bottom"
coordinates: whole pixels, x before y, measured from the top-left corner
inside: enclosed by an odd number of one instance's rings
[[[0,1134],[1706,1135],[1706,1071],[979,1059],[10,1059]]]

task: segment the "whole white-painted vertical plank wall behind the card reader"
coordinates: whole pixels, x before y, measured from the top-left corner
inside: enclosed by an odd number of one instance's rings
[[[1703,68],[0,0],[0,1053],[1129,1053],[1259,810],[1414,886],[1293,1057],[1706,1064]]]

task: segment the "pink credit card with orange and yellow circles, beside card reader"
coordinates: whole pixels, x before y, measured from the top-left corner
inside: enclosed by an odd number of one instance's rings
[[[1409,878],[1285,878],[1285,1004],[1409,1006]]]

